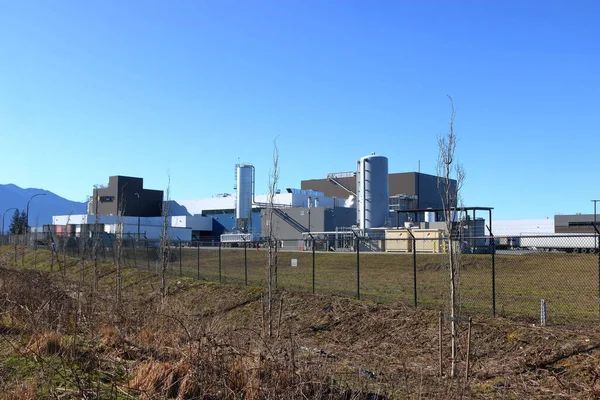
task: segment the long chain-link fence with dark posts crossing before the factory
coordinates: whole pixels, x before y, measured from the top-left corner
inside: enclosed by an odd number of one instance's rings
[[[34,253],[51,250],[59,260],[85,257],[114,264],[119,258],[126,267],[161,268],[156,240],[32,233],[5,236],[2,243],[14,246],[17,264],[19,255],[25,257],[25,250],[18,250],[27,247]],[[277,288],[448,311],[449,245],[441,237],[426,236],[341,241],[308,237],[270,243],[175,240],[168,243],[168,267],[175,276],[262,286],[271,260]],[[596,235],[456,239],[451,246],[458,267],[459,313],[536,322],[544,300],[547,323],[599,322],[599,245]]]

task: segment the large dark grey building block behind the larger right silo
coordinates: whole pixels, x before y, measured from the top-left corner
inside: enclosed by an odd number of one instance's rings
[[[417,199],[414,201],[414,204],[410,205],[410,208],[442,208],[437,181],[437,176],[419,172],[389,174],[390,198],[396,195],[417,196]],[[456,187],[455,180],[452,180],[452,185]],[[343,177],[336,178],[335,180],[329,178],[311,179],[301,182],[302,189],[318,190],[329,197],[347,198],[350,193],[342,186],[356,193],[356,177]]]

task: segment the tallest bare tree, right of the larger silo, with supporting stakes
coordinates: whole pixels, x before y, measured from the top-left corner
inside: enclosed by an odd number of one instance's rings
[[[450,272],[450,331],[451,331],[451,371],[450,376],[456,374],[456,312],[458,273],[460,270],[460,259],[457,255],[456,243],[453,236],[453,220],[458,210],[460,189],[464,183],[466,174],[463,166],[456,161],[457,137],[454,133],[455,109],[452,97],[450,99],[450,123],[448,133],[438,137],[438,190],[440,192],[442,207],[444,211],[446,244],[448,252],[448,270]]]

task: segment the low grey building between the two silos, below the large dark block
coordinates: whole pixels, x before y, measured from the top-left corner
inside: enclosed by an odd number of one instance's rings
[[[310,229],[309,229],[310,220]],[[268,236],[269,209],[261,210],[261,233]],[[274,208],[274,236],[281,240],[302,239],[305,232],[333,232],[356,224],[356,208],[313,207]]]

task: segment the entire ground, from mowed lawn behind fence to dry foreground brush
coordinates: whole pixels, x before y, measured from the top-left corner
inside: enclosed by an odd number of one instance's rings
[[[265,333],[261,301],[264,250],[247,257],[243,250],[223,250],[221,285],[214,283],[218,250],[200,249],[198,258],[197,249],[182,248],[181,255],[177,249],[169,294],[161,299],[159,276],[146,271],[154,267],[151,252],[136,252],[134,259],[126,251],[130,267],[121,271],[117,304],[117,268],[110,262],[99,263],[92,289],[89,258],[0,246],[0,398],[366,399],[377,393],[390,399],[588,399],[600,390],[600,333],[574,326],[597,324],[597,280],[588,279],[597,270],[593,255],[498,255],[499,311],[535,318],[545,296],[550,322],[572,324],[546,328],[476,315],[490,314],[490,256],[463,257],[463,314],[475,316],[468,381],[461,378],[467,324],[458,329],[458,379],[447,375],[444,324],[446,375],[439,377],[437,312],[394,305],[413,302],[412,255],[361,254],[361,298],[367,301],[356,301],[356,254],[315,255],[317,293],[345,296],[339,297],[305,293],[311,291],[311,253],[280,253],[279,286],[297,291],[275,292],[273,336]],[[292,258],[297,267],[290,266]],[[253,285],[247,288],[245,260]],[[443,261],[418,258],[422,306],[443,309]],[[179,277],[179,265],[192,279]],[[198,265],[202,281],[196,280]]]

